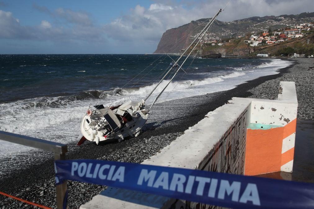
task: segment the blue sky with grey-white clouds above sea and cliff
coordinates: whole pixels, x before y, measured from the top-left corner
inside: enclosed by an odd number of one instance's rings
[[[0,0],[0,54],[144,54],[229,0]],[[314,12],[313,0],[230,0],[217,18]]]

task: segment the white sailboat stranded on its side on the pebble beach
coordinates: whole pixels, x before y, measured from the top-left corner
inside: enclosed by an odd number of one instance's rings
[[[96,144],[99,144],[100,141],[108,139],[117,139],[120,142],[127,137],[137,137],[140,134],[142,127],[145,125],[150,115],[150,110],[155,102],[171,83],[178,71],[184,71],[182,69],[183,64],[221,12],[222,9],[219,9],[216,15],[202,29],[202,31],[186,48],[181,56],[176,61],[173,61],[170,69],[167,73],[165,73],[156,86],[154,86],[153,90],[146,96],[145,99],[142,99],[141,101],[128,101],[115,107],[105,107],[102,104],[89,106],[81,122],[81,133],[83,134],[83,137],[78,142],[78,145],[83,144],[86,140],[94,141]],[[194,47],[192,47],[193,45]],[[190,49],[192,50],[188,53]],[[178,62],[183,58],[183,56],[186,57],[181,65],[179,65]],[[145,105],[146,100],[153,94],[156,88],[172,70],[176,71],[175,74],[164,86],[157,97],[155,97],[150,107],[147,108]]]

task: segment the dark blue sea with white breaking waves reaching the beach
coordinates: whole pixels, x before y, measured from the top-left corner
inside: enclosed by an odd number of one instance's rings
[[[144,99],[177,58],[0,55],[0,130],[76,143],[81,137],[81,120],[90,105],[113,106]],[[277,74],[278,69],[290,64],[280,59],[189,57],[158,102],[229,90],[246,81]],[[174,73],[165,77],[146,104],[152,103]],[[30,150],[1,140],[0,144],[0,159]]]

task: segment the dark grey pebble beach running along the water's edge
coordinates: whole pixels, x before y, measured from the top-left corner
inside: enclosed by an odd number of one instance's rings
[[[137,138],[110,142],[96,146],[86,143],[83,146],[68,145],[67,159],[106,159],[121,162],[140,163],[156,154],[162,148],[180,136],[184,130],[193,126],[204,116],[225,104],[232,97],[254,97],[275,99],[278,94],[279,81],[295,81],[299,100],[298,118],[313,119],[313,66],[314,59],[298,59],[292,67],[280,70],[279,74],[264,76],[248,81],[229,91],[216,92],[201,96],[183,98],[155,106],[143,133]],[[169,114],[159,115],[163,111]],[[10,175],[0,176],[0,191],[18,196],[44,206],[56,208],[53,157],[25,164],[23,168],[14,170]],[[15,160],[23,160],[17,156]],[[105,186],[90,185],[75,181],[68,182],[69,208],[77,208],[89,201]],[[34,208],[20,201],[0,196],[0,209]]]

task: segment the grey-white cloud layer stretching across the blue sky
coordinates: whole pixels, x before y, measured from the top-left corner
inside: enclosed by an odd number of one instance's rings
[[[96,24],[93,16],[85,11],[49,10],[34,3],[33,8],[50,16],[49,22],[42,19],[36,26],[24,26],[11,12],[0,10],[0,38],[73,43],[74,48],[76,43],[98,44],[96,47],[99,47],[110,40],[105,53],[145,53],[156,49],[167,29],[212,17],[228,1],[154,0],[148,7],[136,5],[109,24]],[[0,6],[3,6],[1,2]],[[218,19],[232,21],[313,11],[313,0],[231,0]]]

